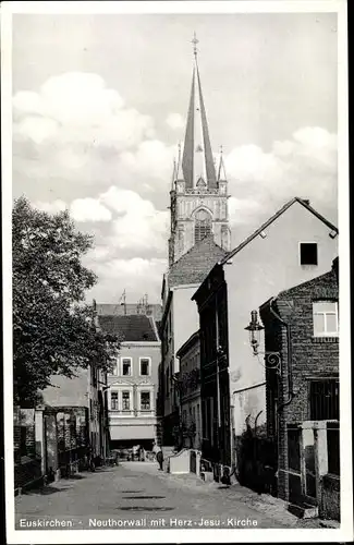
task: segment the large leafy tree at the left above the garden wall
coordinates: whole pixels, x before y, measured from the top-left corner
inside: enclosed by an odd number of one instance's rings
[[[34,403],[52,375],[80,367],[108,370],[117,338],[95,323],[85,292],[97,278],[81,258],[93,238],[75,229],[68,211],[50,215],[25,197],[12,215],[14,402]]]

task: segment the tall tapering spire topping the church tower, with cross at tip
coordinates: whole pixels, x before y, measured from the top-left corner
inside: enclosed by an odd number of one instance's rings
[[[217,189],[216,169],[197,62],[196,46],[198,40],[195,34],[192,44],[194,66],[182,158],[183,178],[186,189],[196,187],[200,178],[208,189]]]

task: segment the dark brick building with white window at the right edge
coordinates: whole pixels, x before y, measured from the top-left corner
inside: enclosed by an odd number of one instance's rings
[[[327,473],[339,489],[338,298],[337,258],[329,272],[282,291],[259,310],[266,353],[280,356],[278,365],[265,360],[267,428],[278,446],[278,494],[285,500],[320,501]],[[321,479],[316,448],[325,464]]]

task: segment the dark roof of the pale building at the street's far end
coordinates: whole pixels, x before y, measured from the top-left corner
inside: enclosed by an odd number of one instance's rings
[[[99,327],[113,335],[119,335],[122,342],[156,342],[159,341],[152,319],[143,315],[100,315],[98,316]]]

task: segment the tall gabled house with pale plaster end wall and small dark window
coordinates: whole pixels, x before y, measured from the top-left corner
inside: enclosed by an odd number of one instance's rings
[[[203,411],[216,423],[206,453],[215,461],[235,463],[246,422],[252,427],[256,420],[258,425],[266,422],[264,361],[253,354],[245,330],[252,310],[274,287],[284,290],[325,274],[338,254],[337,235],[335,226],[308,202],[293,198],[221,259],[194,294],[200,318]],[[203,421],[207,425],[205,413]]]

